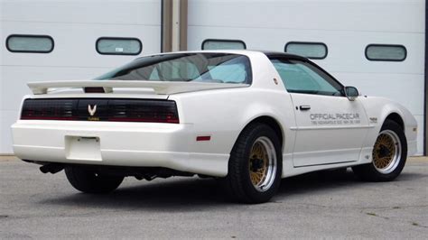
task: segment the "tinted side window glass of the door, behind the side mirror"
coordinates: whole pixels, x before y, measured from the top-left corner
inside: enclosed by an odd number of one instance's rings
[[[271,60],[290,93],[342,96],[342,86],[321,69],[301,60]]]

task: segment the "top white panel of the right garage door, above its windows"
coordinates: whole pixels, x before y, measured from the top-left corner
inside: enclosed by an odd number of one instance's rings
[[[189,25],[284,31],[424,32],[420,21],[424,17],[423,5],[423,0],[190,0]]]

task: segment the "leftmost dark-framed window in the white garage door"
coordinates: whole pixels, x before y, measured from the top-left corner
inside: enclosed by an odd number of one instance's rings
[[[53,51],[53,44],[47,35],[13,34],[6,39],[6,48],[12,52],[48,53]]]

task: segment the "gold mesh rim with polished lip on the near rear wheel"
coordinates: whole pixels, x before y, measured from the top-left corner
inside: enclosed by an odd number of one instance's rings
[[[256,139],[249,154],[248,171],[251,183],[258,191],[265,191],[274,183],[276,152],[269,138]]]

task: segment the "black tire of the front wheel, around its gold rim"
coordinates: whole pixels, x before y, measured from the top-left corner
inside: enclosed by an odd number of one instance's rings
[[[396,158],[392,160],[391,163],[386,165],[385,169],[376,167],[376,154],[377,151],[381,151],[377,148],[377,144],[375,143],[375,147],[372,152],[372,162],[358,165],[352,168],[352,171],[361,179],[368,181],[389,181],[395,180],[398,175],[400,175],[401,171],[405,168],[405,160],[407,158],[407,141],[405,138],[405,132],[400,125],[396,124],[394,121],[386,119],[384,125],[380,129],[379,135],[377,136],[377,142],[380,141],[379,136],[384,134],[391,134],[393,137],[397,139],[397,143],[395,145],[395,151],[399,151],[396,153]],[[393,134],[394,133],[394,134]],[[391,139],[392,139],[391,138]],[[386,150],[388,151],[388,150]],[[386,158],[389,159],[389,158]]]

